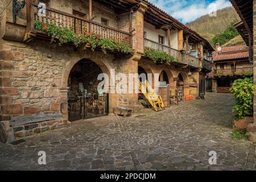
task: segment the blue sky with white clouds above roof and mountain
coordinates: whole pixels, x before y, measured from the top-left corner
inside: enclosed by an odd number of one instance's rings
[[[148,0],[183,23],[192,22],[211,10],[232,6],[229,0]]]

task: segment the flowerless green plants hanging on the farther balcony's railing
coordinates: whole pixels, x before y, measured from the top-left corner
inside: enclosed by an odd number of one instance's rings
[[[145,51],[145,56],[147,56],[149,59],[153,60],[154,63],[166,63],[170,64],[172,61],[175,60],[174,56],[169,55],[166,52],[161,52],[152,48],[146,48]]]

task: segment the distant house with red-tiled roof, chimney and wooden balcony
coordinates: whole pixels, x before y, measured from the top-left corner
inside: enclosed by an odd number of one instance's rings
[[[213,52],[213,91],[216,93],[230,93],[232,83],[241,77],[253,75],[253,64],[249,60],[248,46],[220,47],[216,45]]]

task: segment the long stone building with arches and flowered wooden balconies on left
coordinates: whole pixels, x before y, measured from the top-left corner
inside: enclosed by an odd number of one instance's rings
[[[99,73],[158,73],[154,79],[171,94],[177,86],[184,95],[205,92],[213,47],[146,0],[3,0],[0,12],[2,142],[113,113],[115,106],[139,108],[138,93],[95,93]],[[154,62],[146,50],[172,61]],[[118,80],[104,81],[115,90]]]

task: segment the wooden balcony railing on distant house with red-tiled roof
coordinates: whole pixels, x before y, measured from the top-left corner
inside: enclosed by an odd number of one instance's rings
[[[214,70],[214,76],[239,76],[239,75],[252,75],[252,74],[253,74],[253,67]]]

